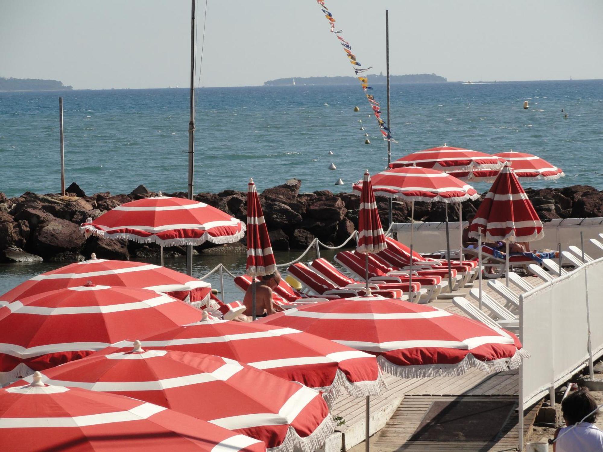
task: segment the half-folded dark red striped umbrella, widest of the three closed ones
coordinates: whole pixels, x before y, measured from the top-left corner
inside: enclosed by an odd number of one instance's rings
[[[507,163],[488,190],[469,227],[469,236],[487,242],[531,242],[545,236],[528,195]]]

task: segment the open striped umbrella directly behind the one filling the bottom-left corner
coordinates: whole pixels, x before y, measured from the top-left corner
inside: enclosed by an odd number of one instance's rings
[[[49,385],[112,392],[203,419],[274,452],[314,452],[333,433],[320,392],[219,356],[145,351],[137,342],[131,351],[96,353],[42,374]]]

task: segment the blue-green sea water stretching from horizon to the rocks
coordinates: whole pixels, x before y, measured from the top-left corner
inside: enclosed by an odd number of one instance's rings
[[[386,118],[385,86],[372,93]],[[250,177],[259,190],[297,177],[302,191],[349,191],[364,169],[374,174],[387,165],[387,142],[359,86],[204,88],[197,95],[195,192],[246,190]],[[60,190],[58,96],[67,184],[75,181],[89,194],[128,193],[138,184],[186,190],[189,90],[143,89],[0,93],[0,192]],[[391,130],[398,142],[391,145],[392,160],[446,143],[530,152],[566,174],[558,181],[522,181],[526,187],[603,189],[601,124],[601,80],[391,86]],[[329,170],[330,163],[337,169]],[[333,185],[338,178],[344,186]],[[487,188],[476,184],[479,191]],[[279,262],[294,257],[279,254]],[[243,256],[199,256],[194,274],[220,261],[236,274],[244,271]],[[60,265],[0,266],[0,293]],[[182,259],[166,265],[185,268]],[[218,277],[209,281],[219,287]],[[232,280],[226,282],[230,301],[240,298]]]

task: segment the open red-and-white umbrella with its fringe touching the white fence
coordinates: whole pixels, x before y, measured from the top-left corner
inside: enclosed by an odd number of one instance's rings
[[[296,328],[377,356],[401,378],[516,369],[529,356],[516,336],[426,304],[353,297],[288,309],[260,323]]]

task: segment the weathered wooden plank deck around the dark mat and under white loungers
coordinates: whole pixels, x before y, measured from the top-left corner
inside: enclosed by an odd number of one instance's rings
[[[504,278],[501,278],[499,281],[505,282]],[[526,281],[533,286],[539,286],[542,283],[537,277],[526,277]],[[510,285],[510,289],[516,293],[520,293],[513,284]],[[482,290],[487,292],[494,300],[499,301],[499,303],[505,303],[502,297],[490,290],[486,280],[482,282]],[[463,289],[463,292],[467,293],[469,289]],[[477,305],[477,302],[474,302],[471,297],[467,296],[466,298]],[[429,304],[446,309],[449,312],[464,315],[461,310],[452,304],[452,300],[440,299],[432,301]],[[408,441],[434,400],[454,400],[458,397],[505,397],[515,399],[519,389],[517,371],[485,374],[484,372],[472,369],[460,377],[403,379],[386,375],[385,380],[388,383],[388,389],[379,395],[379,397],[371,398],[371,413],[379,412],[379,410],[387,410],[389,407],[390,413],[393,412],[393,415],[385,427],[372,436],[371,450],[379,452],[504,451],[514,450],[517,447],[519,439],[517,413],[514,413],[508,419],[504,428],[504,434],[496,442]],[[392,406],[397,403],[399,403],[397,408]],[[351,428],[357,428],[358,424],[362,424],[364,431],[364,399],[343,397],[333,406],[332,413],[345,419],[346,424],[338,428],[344,435]],[[530,413],[526,413],[526,431],[531,427],[536,413],[537,409],[532,409]],[[350,449],[351,446],[353,445],[347,444],[346,448]],[[352,447],[352,450],[354,452],[362,452],[364,447],[364,442],[361,442]]]

